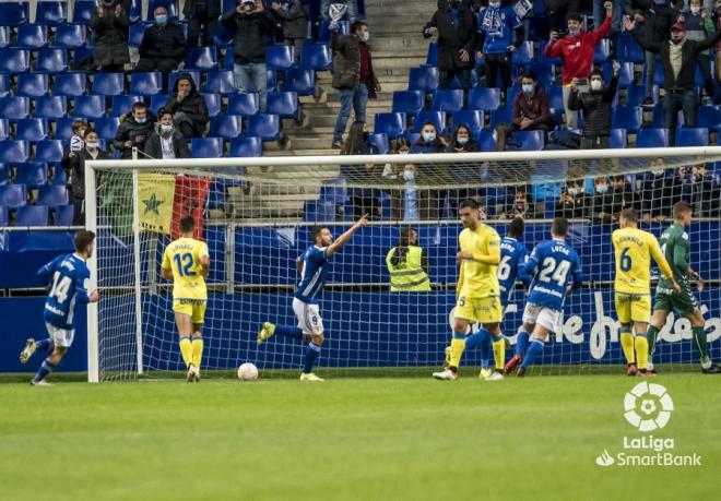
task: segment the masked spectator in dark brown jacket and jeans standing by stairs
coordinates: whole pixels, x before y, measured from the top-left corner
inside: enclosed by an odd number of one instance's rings
[[[368,99],[376,98],[380,92],[380,83],[373,71],[373,56],[368,47],[370,34],[368,25],[356,21],[351,26],[351,35],[333,32],[331,47],[333,48],[333,88],[340,91],[341,109],[333,131],[332,148],[343,146],[343,132],[351,117],[351,108],[356,122],[366,121]]]

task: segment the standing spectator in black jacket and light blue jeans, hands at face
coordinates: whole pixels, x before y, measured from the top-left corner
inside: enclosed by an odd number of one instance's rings
[[[275,17],[265,10],[262,0],[238,0],[236,9],[225,14],[221,24],[233,33],[233,72],[238,92],[257,92],[260,111],[265,112],[265,37],[272,36]]]

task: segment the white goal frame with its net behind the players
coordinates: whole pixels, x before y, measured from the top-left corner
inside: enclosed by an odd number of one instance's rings
[[[88,313],[91,381],[169,377],[185,370],[174,321],[172,284],[161,277],[178,220],[196,217],[210,249],[204,318],[205,375],[231,375],[243,362],[261,377],[294,375],[305,345],[256,337],[270,321],[296,325],[292,309],[296,259],[311,228],[339,236],[361,214],[370,223],[330,261],[319,308],[326,344],[321,375],[423,374],[444,361],[456,301],[458,203],[475,199],[485,224],[503,237],[525,219],[529,251],[549,238],[554,216],[570,219],[568,240],[584,276],[570,295],[534,373],[620,372],[625,358],[613,301],[611,234],[618,212],[636,207],[641,228],[660,237],[671,207],[695,208],[688,228],[695,289],[712,357],[721,357],[721,224],[717,162],[721,147],[485,154],[103,160],[86,169],[87,226],[96,230],[91,262],[101,301]],[[391,290],[389,251],[412,228],[427,258],[430,290]],[[425,261],[425,260],[424,260]],[[658,269],[652,271],[658,277]],[[411,286],[411,288],[413,288]],[[506,305],[504,334],[512,355],[524,291]],[[688,320],[671,314],[653,358],[663,370],[696,367]],[[466,350],[461,371],[475,371]]]

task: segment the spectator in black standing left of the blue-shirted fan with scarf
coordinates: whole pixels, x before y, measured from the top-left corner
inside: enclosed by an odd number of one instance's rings
[[[475,67],[478,23],[473,11],[461,0],[438,2],[438,10],[423,28],[423,36],[438,35],[438,86],[450,88],[453,77],[463,90],[464,103]]]

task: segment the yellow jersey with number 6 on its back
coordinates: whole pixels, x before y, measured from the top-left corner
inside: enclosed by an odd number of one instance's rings
[[[651,258],[661,273],[672,276],[659,241],[653,235],[638,228],[617,229],[611,236],[616,253],[616,293],[650,294]]]

